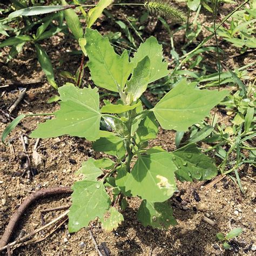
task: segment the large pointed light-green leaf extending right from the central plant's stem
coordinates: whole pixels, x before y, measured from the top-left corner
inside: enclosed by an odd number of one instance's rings
[[[226,90],[199,90],[195,86],[181,80],[152,109],[163,129],[187,131],[228,95]]]

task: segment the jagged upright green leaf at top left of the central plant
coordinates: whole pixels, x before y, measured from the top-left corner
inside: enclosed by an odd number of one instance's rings
[[[107,37],[102,37],[97,30],[87,28],[85,33],[85,50],[90,59],[88,66],[93,82],[107,90],[123,90],[130,76],[132,64],[127,51],[122,56],[114,52]]]

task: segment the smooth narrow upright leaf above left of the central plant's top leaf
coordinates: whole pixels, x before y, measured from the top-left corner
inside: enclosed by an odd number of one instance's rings
[[[62,0],[62,4],[67,5],[68,3]],[[64,16],[66,24],[68,24],[69,29],[78,41],[80,37],[84,36],[84,31],[76,12],[73,9],[67,9],[64,10]]]

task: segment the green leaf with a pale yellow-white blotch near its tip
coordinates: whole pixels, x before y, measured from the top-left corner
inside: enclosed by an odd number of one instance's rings
[[[174,171],[176,166],[167,152],[138,156],[125,190],[152,203],[166,201],[176,190]]]

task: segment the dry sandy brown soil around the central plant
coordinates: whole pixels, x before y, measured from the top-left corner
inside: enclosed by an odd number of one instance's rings
[[[160,37],[167,36],[160,33]],[[62,41],[63,38],[63,35],[53,37],[43,46],[53,59],[56,73],[60,69],[75,72],[80,57],[70,55],[68,51],[76,49],[77,45],[73,41]],[[174,38],[174,41],[178,42],[179,38]],[[8,48],[5,51],[8,52]],[[165,52],[168,51],[165,49]],[[246,58],[248,56],[242,56],[241,59],[229,60],[229,63],[234,66],[242,65],[247,62]],[[32,45],[28,44],[18,58],[8,64],[4,63],[4,58],[1,59],[0,77],[5,84],[23,79],[41,81],[37,85],[28,85],[24,100],[12,112],[13,117],[21,113],[49,113],[58,109],[57,103],[46,103],[55,91],[45,82]],[[84,79],[87,79],[86,74]],[[63,79],[58,75],[57,82],[63,84]],[[1,93],[1,110],[7,112],[8,107],[17,99],[19,91],[16,87]],[[10,120],[3,112],[0,116],[2,132]],[[40,140],[37,152],[43,161],[36,166],[32,158],[32,149],[36,140],[31,138],[25,140],[25,151],[21,136],[28,138],[29,133],[44,119],[45,117],[30,117],[22,120],[8,137],[11,146],[1,145],[0,235],[3,234],[11,215],[25,197],[42,188],[71,186],[74,181],[79,180],[74,173],[83,161],[89,157],[102,157],[100,153],[91,149],[91,143],[85,139],[63,136]],[[161,145],[169,151],[174,150],[174,132],[160,130],[158,138],[151,144]],[[29,166],[26,163],[26,154],[31,160]],[[105,243],[111,255],[254,255],[255,174],[250,166],[245,165],[240,171],[240,176],[245,194],[242,194],[237,184],[228,177],[207,190],[205,186],[201,186],[196,190],[197,193],[194,190],[196,184],[178,183],[179,192],[170,200],[178,225],[167,231],[146,228],[137,221],[136,212],[140,200],[136,198],[129,199],[129,207],[122,212],[125,221],[116,231],[104,232],[97,221],[91,223],[91,231],[98,245]],[[17,239],[21,233],[27,234],[40,227],[42,210],[67,205],[69,202],[70,197],[64,196],[36,201],[22,216],[12,240]],[[62,212],[53,211],[45,214],[45,222],[56,218]],[[203,221],[205,216],[215,221],[216,225],[205,223]],[[218,232],[226,234],[234,227],[242,227],[243,233],[232,240],[232,250],[225,251],[215,240],[215,234]],[[37,238],[43,235],[45,234],[41,233]],[[65,223],[42,242],[17,248],[14,255],[97,255],[97,252],[88,230],[83,228],[77,233],[69,234]],[[107,252],[105,255],[108,255]]]

